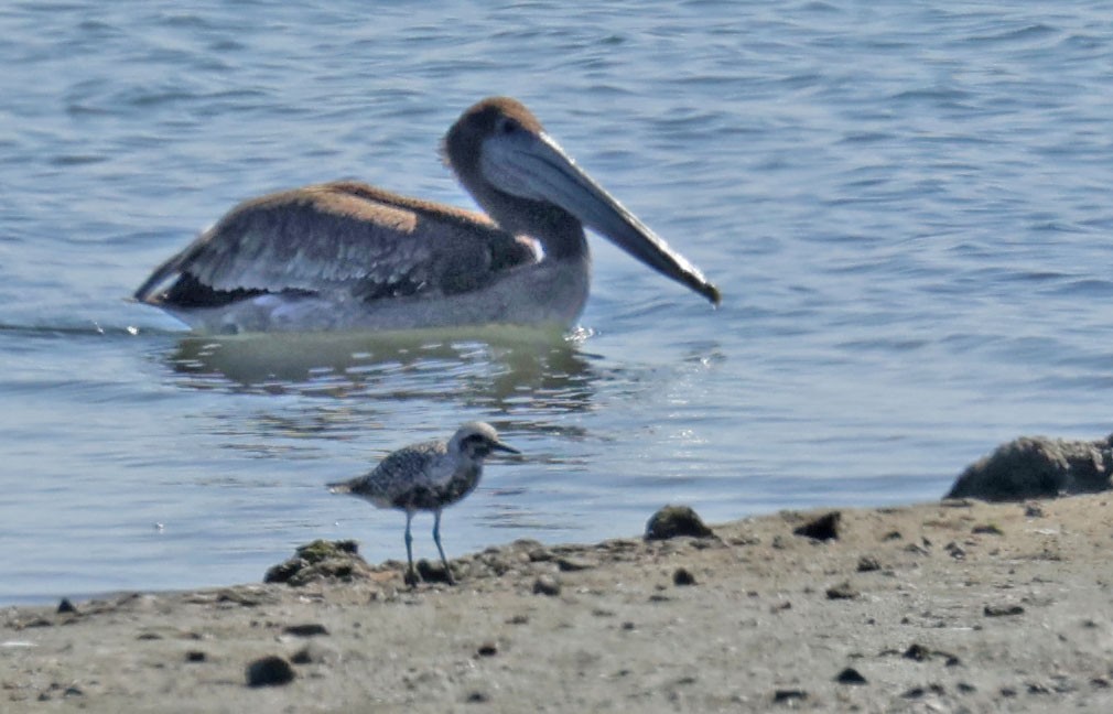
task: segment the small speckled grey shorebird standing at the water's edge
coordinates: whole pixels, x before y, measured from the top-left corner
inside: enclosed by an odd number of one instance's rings
[[[449,559],[441,547],[441,510],[472,493],[483,475],[483,459],[492,450],[520,454],[499,440],[494,427],[483,422],[464,424],[451,439],[413,444],[387,454],[371,473],[352,480],[328,484],[334,494],[365,498],[380,508],[406,512],[406,584],[417,583],[410,522],[418,510],[432,510],[433,542],[441,554],[444,574],[453,585]]]

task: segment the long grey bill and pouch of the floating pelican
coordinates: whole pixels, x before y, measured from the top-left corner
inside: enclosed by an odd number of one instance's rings
[[[719,289],[696,266],[608,194],[544,131],[492,135],[480,152],[480,170],[499,190],[560,206],[638,260],[719,304]]]

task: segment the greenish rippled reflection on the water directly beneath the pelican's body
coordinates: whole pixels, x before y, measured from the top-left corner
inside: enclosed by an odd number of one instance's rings
[[[574,343],[536,330],[483,327],[400,333],[189,336],[166,356],[183,386],[236,391],[386,395],[504,401],[536,394],[546,409],[580,410],[591,366]],[[218,380],[214,380],[216,377]]]

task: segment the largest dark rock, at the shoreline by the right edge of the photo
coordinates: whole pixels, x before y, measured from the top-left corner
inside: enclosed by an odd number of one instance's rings
[[[1021,437],[968,466],[946,497],[1023,500],[1097,493],[1110,489],[1111,466],[1113,436],[1096,442]]]

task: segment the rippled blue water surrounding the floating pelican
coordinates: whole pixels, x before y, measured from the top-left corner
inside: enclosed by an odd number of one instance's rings
[[[0,9],[0,602],[401,557],[401,514],[323,484],[470,418],[525,456],[451,554],[930,499],[1113,426],[1113,3],[191,4]],[[471,205],[436,149],[493,93],[722,308],[602,241],[567,340],[214,343],[125,300],[269,190]]]

